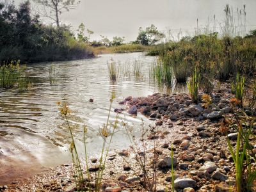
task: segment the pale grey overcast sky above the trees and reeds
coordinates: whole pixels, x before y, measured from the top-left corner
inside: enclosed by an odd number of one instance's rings
[[[15,0],[19,3],[22,0]],[[24,1],[24,0],[23,0]],[[126,42],[136,40],[138,29],[154,24],[167,33],[171,30],[175,38],[180,29],[182,35],[191,35],[197,26],[204,28],[208,20],[213,24],[213,16],[223,22],[226,4],[242,9],[246,4],[247,30],[256,28],[256,0],[80,0],[75,10],[60,15],[61,22],[71,24],[74,32],[83,22],[94,31],[92,39],[100,35],[125,36]],[[35,5],[33,5],[34,7]],[[236,14],[235,14],[236,15]],[[43,18],[45,22],[49,20]],[[253,26],[252,26],[253,25]],[[219,27],[219,24],[217,24]]]

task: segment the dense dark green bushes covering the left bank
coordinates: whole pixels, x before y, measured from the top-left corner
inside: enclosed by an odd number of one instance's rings
[[[92,57],[88,45],[77,42],[70,26],[45,26],[31,17],[28,1],[0,7],[0,63],[74,60]],[[3,27],[2,27],[3,26]]]

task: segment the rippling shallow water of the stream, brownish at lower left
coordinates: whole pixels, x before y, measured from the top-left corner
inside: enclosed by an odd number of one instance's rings
[[[135,78],[132,74],[126,74],[115,82],[109,81],[107,62],[111,58],[120,61],[121,68],[128,65],[132,68],[134,60],[139,60],[143,75]],[[111,111],[125,108],[118,102],[129,95],[141,97],[155,92],[170,92],[149,81],[148,70],[154,61],[155,57],[137,52],[104,54],[90,60],[28,65],[30,76],[37,82],[31,90],[23,93],[14,89],[0,92],[0,184],[71,161],[68,152],[70,134],[58,112],[58,101],[68,102],[74,111],[69,119],[77,146],[83,148],[81,127],[86,124],[89,130],[88,151],[91,155],[99,152],[102,143],[99,126],[106,122],[112,92],[115,92],[116,99]],[[49,81],[52,64],[57,76],[54,83]],[[89,102],[89,99],[94,102]],[[115,120],[115,115],[111,112],[111,121]],[[150,124],[140,114],[136,117],[127,113],[124,115],[120,118],[134,123],[136,134],[140,132],[141,118]],[[112,146],[129,146],[124,129],[119,128],[116,132]]]

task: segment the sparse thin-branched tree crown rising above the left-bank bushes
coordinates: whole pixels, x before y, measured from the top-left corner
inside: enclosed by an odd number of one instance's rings
[[[56,25],[60,27],[60,15],[63,12],[68,12],[76,8],[80,1],[76,0],[33,0],[35,3],[42,6],[42,10],[38,11],[40,15],[54,20]]]

